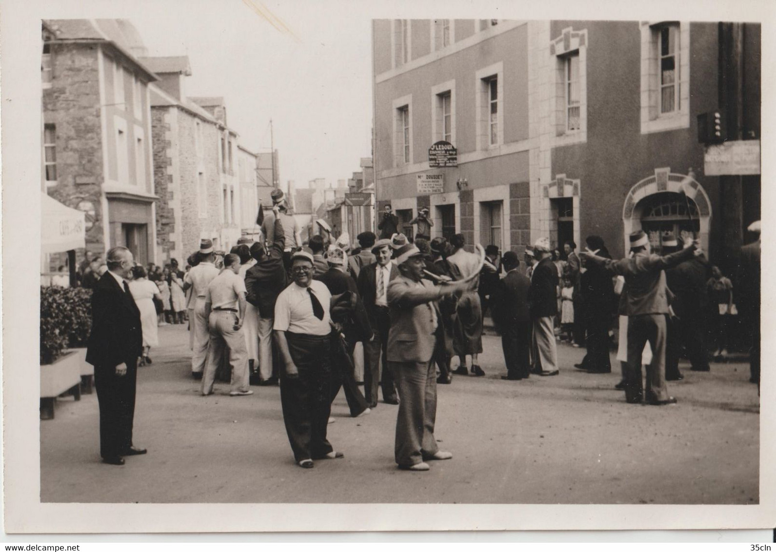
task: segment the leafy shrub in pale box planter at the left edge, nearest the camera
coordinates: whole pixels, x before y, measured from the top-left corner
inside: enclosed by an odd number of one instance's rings
[[[74,325],[67,288],[40,288],[40,418],[54,418],[54,400],[71,392],[81,400],[81,366],[76,351],[66,352]]]

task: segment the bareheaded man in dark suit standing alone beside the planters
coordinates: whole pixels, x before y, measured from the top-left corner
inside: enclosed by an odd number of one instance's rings
[[[108,251],[108,272],[92,295],[92,335],[86,361],[95,367],[99,402],[100,455],[106,464],[121,466],[125,456],[145,454],[132,444],[137,357],[143,352],[140,310],[124,278],[133,267],[126,247]]]

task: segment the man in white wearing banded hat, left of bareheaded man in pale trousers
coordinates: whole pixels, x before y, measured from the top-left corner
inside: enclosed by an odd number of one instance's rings
[[[195,379],[202,379],[207,358],[207,346],[210,342],[205,297],[207,286],[220,272],[215,265],[216,254],[213,251],[213,240],[203,239],[199,242],[198,256],[199,264],[186,273],[184,285],[191,286],[194,301],[194,316],[189,319],[192,332],[192,376]]]

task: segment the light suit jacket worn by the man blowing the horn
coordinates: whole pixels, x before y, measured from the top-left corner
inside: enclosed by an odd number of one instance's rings
[[[388,284],[390,331],[388,361],[428,362],[434,354],[436,329],[442,323],[437,300],[442,290],[428,280],[399,276]],[[432,309],[434,314],[432,314]]]

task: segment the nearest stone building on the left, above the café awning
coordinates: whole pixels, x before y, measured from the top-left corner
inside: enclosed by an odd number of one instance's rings
[[[85,212],[86,248],[156,255],[151,110],[156,75],[123,19],[43,21],[43,188]],[[81,259],[81,252],[78,252]]]

